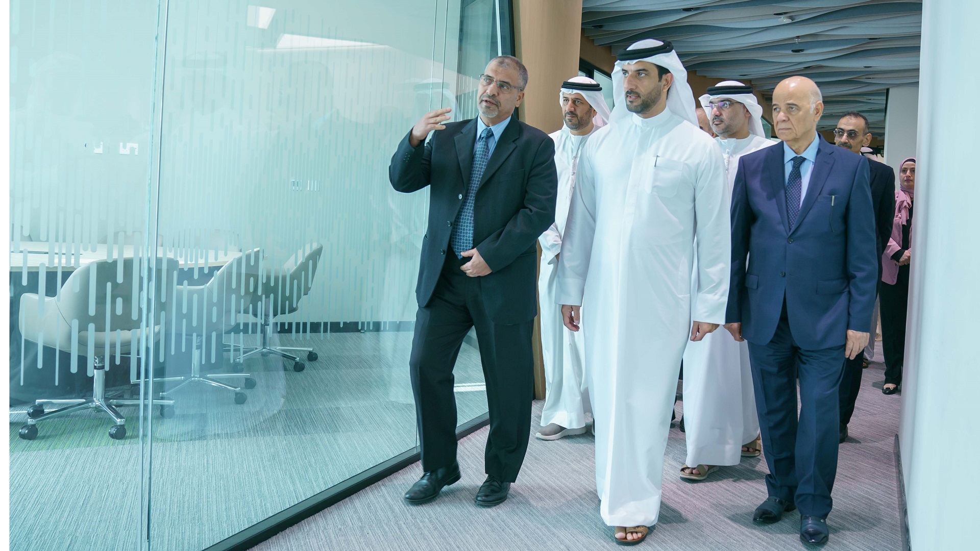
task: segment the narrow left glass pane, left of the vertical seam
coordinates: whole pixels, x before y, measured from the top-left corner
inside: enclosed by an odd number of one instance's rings
[[[158,5],[10,10],[10,545],[138,549]]]

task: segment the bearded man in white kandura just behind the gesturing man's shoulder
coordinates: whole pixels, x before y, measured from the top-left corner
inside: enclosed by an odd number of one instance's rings
[[[541,243],[538,300],[541,304],[541,355],[546,391],[541,428],[534,435],[542,440],[558,440],[585,432],[585,414],[592,412],[583,384],[585,337],[569,331],[562,323],[562,307],[555,302],[555,286],[564,222],[571,203],[571,191],[575,188],[578,155],[589,136],[610,119],[602,86],[587,76],[566,80],[559,92],[559,101],[564,126],[551,134],[555,140],[555,166],[558,168],[558,206],[555,224],[538,237]]]

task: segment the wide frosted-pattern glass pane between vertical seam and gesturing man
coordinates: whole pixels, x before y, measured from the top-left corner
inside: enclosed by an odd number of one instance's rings
[[[395,192],[387,167],[423,113],[473,104],[497,53],[495,3],[463,4],[171,0],[154,230],[202,260],[165,312],[153,391],[175,415],[151,444],[152,545],[201,549],[416,446],[428,196]],[[205,244],[215,230],[254,257],[233,299],[207,290],[235,262]],[[209,306],[183,313],[194,297]],[[474,344],[460,423],[486,412]]]

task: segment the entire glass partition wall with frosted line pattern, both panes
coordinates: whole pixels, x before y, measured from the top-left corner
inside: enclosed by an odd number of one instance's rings
[[[12,549],[221,548],[417,446],[387,167],[509,13],[257,2],[12,3]],[[463,426],[475,338],[455,376]]]

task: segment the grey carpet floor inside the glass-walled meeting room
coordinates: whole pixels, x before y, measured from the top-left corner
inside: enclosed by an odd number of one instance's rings
[[[172,419],[154,418],[154,549],[203,549],[416,445],[411,332],[278,339],[313,346],[319,360],[302,373],[273,357],[249,360],[257,385],[245,404],[195,385],[174,395]],[[455,376],[469,385],[457,393],[464,423],[487,408],[475,349],[463,347]],[[38,424],[26,441],[17,436],[25,419],[10,416],[11,548],[138,548],[136,424],[112,440],[108,418],[83,412]]]

